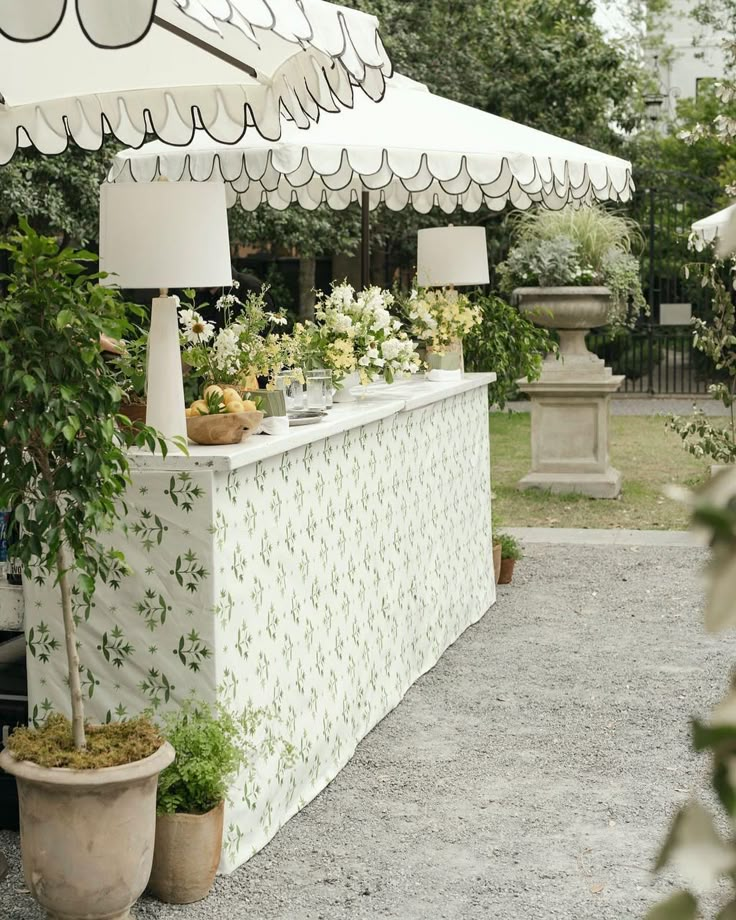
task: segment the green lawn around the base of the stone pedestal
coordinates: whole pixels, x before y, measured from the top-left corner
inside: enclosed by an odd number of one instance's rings
[[[628,527],[633,530],[686,530],[688,512],[662,495],[667,483],[697,485],[709,463],[696,460],[680,438],[665,428],[663,416],[611,419],[611,462],[624,479],[616,501],[580,495],[519,492],[517,482],[531,465],[528,413],[491,415],[491,469],[494,522],[507,527]]]

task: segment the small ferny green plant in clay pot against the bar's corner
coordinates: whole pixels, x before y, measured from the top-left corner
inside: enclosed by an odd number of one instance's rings
[[[188,700],[164,717],[176,759],[160,775],[150,893],[169,904],[206,898],[222,850],[225,796],[255,751],[258,712],[233,715]]]

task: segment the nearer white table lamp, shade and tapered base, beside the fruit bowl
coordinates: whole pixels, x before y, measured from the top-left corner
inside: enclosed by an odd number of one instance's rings
[[[107,284],[160,290],[148,337],[146,424],[186,440],[179,299],[168,290],[231,283],[224,184],[103,184],[100,270],[110,273]]]

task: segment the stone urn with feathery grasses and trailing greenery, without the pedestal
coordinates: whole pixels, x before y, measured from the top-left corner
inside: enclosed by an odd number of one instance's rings
[[[641,289],[637,226],[600,206],[522,214],[498,266],[501,289],[540,326],[557,329],[566,361],[600,359],[585,336],[595,326],[633,326],[648,307]]]

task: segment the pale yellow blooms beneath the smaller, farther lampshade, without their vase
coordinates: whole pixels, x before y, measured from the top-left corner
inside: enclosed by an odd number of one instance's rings
[[[482,319],[480,307],[455,291],[412,291],[404,310],[411,334],[436,352],[464,339]]]

